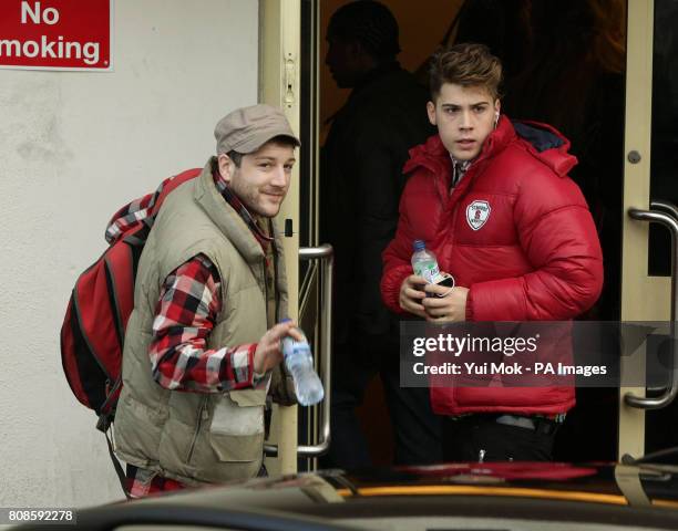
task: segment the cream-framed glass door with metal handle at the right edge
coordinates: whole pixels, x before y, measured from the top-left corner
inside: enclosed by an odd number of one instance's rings
[[[674,322],[678,229],[678,1],[629,0],[622,320]],[[650,226],[651,223],[651,226]],[[664,226],[664,227],[661,227]],[[675,238],[675,237],[674,237]],[[670,326],[671,335],[675,326]],[[623,356],[623,381],[643,382],[643,353]],[[622,387],[618,456],[676,445],[674,353],[664,385]]]

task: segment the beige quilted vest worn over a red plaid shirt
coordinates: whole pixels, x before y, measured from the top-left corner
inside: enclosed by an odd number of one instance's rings
[[[240,216],[203,173],[167,196],[138,264],[134,311],[123,353],[123,391],[115,415],[116,454],[124,461],[188,485],[256,476],[264,444],[265,389],[199,394],[167,391],[152,377],[148,345],[161,283],[192,257],[219,271],[223,308],[208,348],[257,342],[267,330],[265,256]],[[277,322],[287,316],[282,246],[276,235]],[[268,299],[271,299],[270,295]]]

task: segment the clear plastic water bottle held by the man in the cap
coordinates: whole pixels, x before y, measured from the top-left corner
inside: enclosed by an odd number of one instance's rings
[[[318,404],[325,396],[325,389],[314,368],[314,357],[308,341],[306,337],[304,341],[297,341],[288,335],[281,343],[285,366],[292,375],[297,400],[302,406]]]

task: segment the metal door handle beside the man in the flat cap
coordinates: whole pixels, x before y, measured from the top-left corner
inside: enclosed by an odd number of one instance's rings
[[[319,441],[317,445],[301,445],[297,447],[297,454],[302,457],[320,457],[329,449],[330,434],[330,400],[331,400],[331,361],[332,361],[332,274],[335,269],[335,250],[329,243],[319,247],[299,248],[300,260],[320,260],[322,263],[322,324],[320,335],[322,339],[320,347],[319,365],[322,367],[320,379],[325,388],[325,399],[320,404],[322,412]],[[277,445],[264,445],[267,456],[278,455]]]

